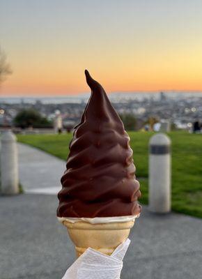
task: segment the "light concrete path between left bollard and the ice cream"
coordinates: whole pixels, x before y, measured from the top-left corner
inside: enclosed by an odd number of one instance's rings
[[[20,183],[25,193],[56,195],[65,162],[26,144],[18,144]]]

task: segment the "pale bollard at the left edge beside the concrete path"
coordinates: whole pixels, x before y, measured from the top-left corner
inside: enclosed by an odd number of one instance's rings
[[[16,137],[7,130],[1,137],[1,193],[19,193]]]

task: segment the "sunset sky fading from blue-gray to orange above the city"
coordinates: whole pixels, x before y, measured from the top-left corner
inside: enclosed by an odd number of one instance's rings
[[[202,91],[201,0],[0,0],[0,96]]]

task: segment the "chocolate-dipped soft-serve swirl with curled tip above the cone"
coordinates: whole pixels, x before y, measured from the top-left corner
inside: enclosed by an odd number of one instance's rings
[[[130,137],[102,86],[87,70],[85,74],[91,97],[70,142],[57,216],[138,215],[141,193],[134,175]]]

